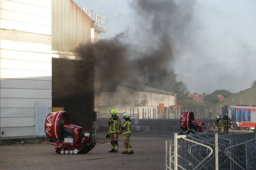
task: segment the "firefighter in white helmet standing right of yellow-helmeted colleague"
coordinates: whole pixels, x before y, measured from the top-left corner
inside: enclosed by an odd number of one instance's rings
[[[124,123],[121,126],[121,130],[122,130],[122,134],[124,135],[124,152],[122,152],[122,154],[132,154],[133,149],[132,149],[132,145],[130,143],[130,137],[132,134],[132,130],[131,130],[131,119],[130,119],[130,113],[128,112],[124,112]]]

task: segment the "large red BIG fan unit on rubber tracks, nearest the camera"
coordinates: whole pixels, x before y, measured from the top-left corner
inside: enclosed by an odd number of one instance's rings
[[[87,153],[95,147],[95,134],[83,133],[83,127],[71,124],[68,112],[49,113],[45,120],[45,133],[55,146],[56,153]]]

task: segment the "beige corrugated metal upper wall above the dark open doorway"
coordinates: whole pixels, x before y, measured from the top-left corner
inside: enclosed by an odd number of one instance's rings
[[[93,20],[72,0],[52,0],[52,50],[74,52],[90,40]]]

